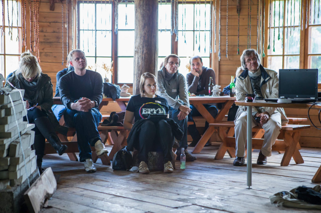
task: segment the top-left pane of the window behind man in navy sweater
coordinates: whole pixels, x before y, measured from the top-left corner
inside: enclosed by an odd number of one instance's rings
[[[80,29],[95,29],[95,4],[79,4]]]

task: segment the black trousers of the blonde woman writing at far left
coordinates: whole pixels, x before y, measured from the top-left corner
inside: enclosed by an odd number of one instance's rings
[[[27,111],[27,116],[29,123],[34,123],[35,119],[40,117],[47,117],[47,114],[45,111],[34,108],[33,110]],[[26,116],[23,117],[23,121],[27,121]],[[40,155],[42,157],[45,152],[46,138],[41,134],[37,126],[35,126],[35,128],[31,130],[35,131],[35,139],[32,148],[35,150],[36,155]]]

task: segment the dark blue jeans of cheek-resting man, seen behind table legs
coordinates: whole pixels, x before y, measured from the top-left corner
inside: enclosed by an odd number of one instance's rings
[[[218,110],[215,106],[204,104],[204,107],[213,116],[213,118],[217,116]],[[201,138],[201,135],[196,129],[195,121],[193,120],[192,116],[200,116],[201,114],[193,105],[190,105],[189,108],[191,108],[191,112],[188,114],[188,121],[193,121],[194,124],[188,126],[188,132],[193,138],[193,142],[197,143]],[[208,128],[208,122],[205,121],[204,132],[206,131],[207,128]]]

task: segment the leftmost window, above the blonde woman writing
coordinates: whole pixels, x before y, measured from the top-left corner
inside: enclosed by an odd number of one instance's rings
[[[0,10],[2,11],[2,4],[0,4]],[[6,77],[18,68],[19,57],[22,52],[20,1],[9,0],[8,6],[4,4],[5,32],[2,31],[2,18],[0,20],[0,26],[0,73]],[[19,40],[17,40],[18,35]]]

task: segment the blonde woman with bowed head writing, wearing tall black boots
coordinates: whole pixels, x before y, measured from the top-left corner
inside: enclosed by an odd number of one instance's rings
[[[52,117],[48,117],[48,111],[53,104],[53,90],[51,79],[47,74],[42,73],[37,58],[32,55],[26,55],[20,60],[18,70],[8,80],[14,87],[24,89],[23,99],[26,100],[27,117],[29,123],[34,123],[35,138],[33,148],[37,155],[37,167],[42,173],[42,157],[45,150],[46,139],[51,146],[55,148],[59,155],[65,153],[66,145],[61,145],[61,142],[56,135],[53,127],[54,121]],[[6,86],[12,87],[7,83]],[[23,117],[27,121],[27,117]],[[53,116],[53,119],[56,119]]]

